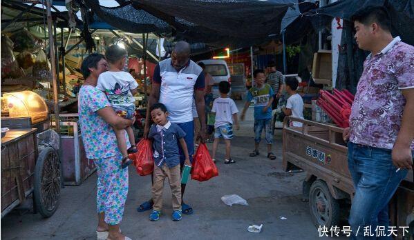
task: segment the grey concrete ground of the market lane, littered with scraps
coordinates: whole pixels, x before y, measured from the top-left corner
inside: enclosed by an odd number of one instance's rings
[[[237,105],[241,111],[243,102]],[[254,148],[252,116],[250,108],[241,130],[235,131],[232,157],[236,163],[223,164],[222,143],[216,157],[219,176],[202,183],[189,182],[184,199],[194,208],[194,214],[183,214],[182,221],[171,221],[168,187],[160,221],[149,221],[150,212],[136,211],[151,196],[151,179],[140,177],[130,168],[122,232],[132,239],[319,239],[308,203],[301,201],[305,174],[289,174],[281,169],[281,131],[276,130],[274,136],[276,160],[266,158],[263,141],[261,155],[248,156]],[[1,239],[95,239],[96,179],[93,174],[82,186],[62,189],[60,206],[48,219],[30,212],[10,212],[1,219]],[[226,206],[220,198],[227,194],[238,194],[249,206]],[[262,232],[247,232],[251,224],[263,224]]]

